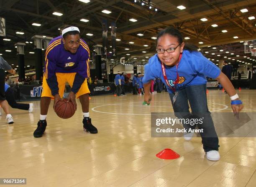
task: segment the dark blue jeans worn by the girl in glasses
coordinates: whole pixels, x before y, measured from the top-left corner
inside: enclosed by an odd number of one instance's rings
[[[203,129],[203,132],[200,133],[203,148],[205,152],[211,150],[218,151],[218,148],[220,147],[219,139],[207,106],[206,84],[187,86],[186,88],[177,91],[175,95],[169,93],[169,96],[172,101],[174,114],[177,118],[203,118],[203,123],[197,124],[198,129]],[[189,105],[192,113],[189,112]],[[195,129],[195,125],[191,126],[183,124],[183,126],[185,129]]]

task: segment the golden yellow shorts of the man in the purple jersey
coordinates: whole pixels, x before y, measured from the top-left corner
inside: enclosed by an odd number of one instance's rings
[[[63,94],[64,94],[66,82],[68,82],[69,85],[72,87],[75,75],[76,75],[76,73],[56,73],[58,87],[59,87],[59,95],[60,95],[61,98],[63,97]],[[49,86],[46,82],[45,76],[43,78],[42,87],[43,87],[43,91],[42,91],[41,97],[54,98],[54,96],[51,95],[51,89],[49,88]],[[76,97],[79,98],[79,96],[82,96],[86,93],[90,93],[90,90],[89,90],[88,85],[87,85],[87,78],[82,83],[80,89],[76,93]]]

